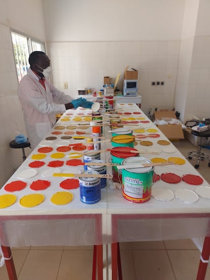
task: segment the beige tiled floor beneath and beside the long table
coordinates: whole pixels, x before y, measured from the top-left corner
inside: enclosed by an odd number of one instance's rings
[[[195,150],[187,141],[173,143],[187,157]],[[205,149],[210,155],[210,150]],[[190,161],[195,164],[194,160]],[[198,171],[210,182],[207,161]],[[190,239],[120,244],[123,280],[194,280],[200,253]],[[18,280],[90,280],[90,247],[30,247],[13,249]],[[0,279],[8,280],[5,266]],[[205,280],[210,279],[207,268]]]

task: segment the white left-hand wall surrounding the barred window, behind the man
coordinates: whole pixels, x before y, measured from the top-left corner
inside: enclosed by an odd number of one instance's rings
[[[22,150],[10,148],[9,143],[16,131],[25,133],[10,28],[45,40],[42,1],[0,1],[0,188],[22,162]],[[28,155],[30,149],[25,152]]]

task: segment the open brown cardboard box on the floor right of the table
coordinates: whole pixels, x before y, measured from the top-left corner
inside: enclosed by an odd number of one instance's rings
[[[154,118],[157,120],[170,121],[171,119],[176,119],[176,115],[174,111],[161,110],[155,111]],[[184,133],[181,124],[161,124],[157,125],[157,127],[170,141],[184,139]]]

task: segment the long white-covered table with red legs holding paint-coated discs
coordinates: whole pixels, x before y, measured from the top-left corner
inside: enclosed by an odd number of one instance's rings
[[[135,146],[136,149],[150,150],[151,148],[160,149],[159,155],[145,154],[142,155],[148,159],[154,157],[167,159],[171,156],[180,157],[184,159],[184,156],[170,143],[169,146],[174,149],[173,153],[162,152],[161,146],[157,144],[158,140],[167,140],[161,131],[146,117],[146,115],[136,106],[136,104],[117,104],[117,109],[120,109],[121,113],[131,113],[131,115],[121,115],[127,118],[127,122],[132,121],[132,118],[142,118],[148,121],[148,123],[141,123],[139,120],[138,126],[133,126],[132,123],[128,123],[125,126],[134,131],[134,134],[149,134],[147,129],[157,129],[160,137],[158,138],[146,138],[153,142],[153,146],[145,147],[139,144]],[[74,113],[71,116],[71,120],[66,118],[68,113]],[[133,112],[139,112],[141,114],[135,115]],[[209,200],[199,197],[195,203],[185,203],[174,197],[171,201],[164,202],[151,199],[146,203],[132,203],[122,197],[122,191],[119,189],[111,189],[110,185],[113,184],[111,180],[108,180],[108,186],[102,189],[101,200],[95,204],[84,204],[80,201],[79,189],[71,190],[74,194],[74,199],[71,203],[66,205],[54,205],[50,202],[50,197],[57,191],[62,189],[59,187],[60,182],[67,178],[55,178],[43,177],[43,171],[48,169],[47,164],[52,161],[51,154],[56,152],[56,148],[61,145],[61,141],[69,141],[70,144],[75,142],[73,139],[61,139],[61,136],[65,135],[65,131],[69,131],[66,127],[69,125],[78,125],[81,121],[77,118],[81,117],[80,114],[90,114],[90,110],[69,110],[60,120],[56,123],[56,126],[64,126],[64,129],[55,130],[52,129],[51,133],[47,136],[56,136],[57,139],[52,141],[51,147],[53,152],[47,153],[46,158],[43,161],[46,164],[43,167],[37,168],[38,173],[33,178],[24,180],[27,182],[27,187],[14,194],[17,196],[17,202],[12,206],[4,209],[0,209],[0,243],[4,248],[4,253],[8,253],[5,257],[10,258],[10,251],[7,251],[9,247],[22,247],[22,246],[50,246],[50,245],[89,245],[94,244],[100,246],[100,244],[112,243],[112,261],[113,270],[112,278],[117,279],[117,262],[118,262],[118,242],[124,241],[141,241],[141,240],[166,240],[166,239],[179,239],[179,238],[192,238],[203,237],[210,235],[210,207]],[[79,115],[78,115],[79,114]],[[75,116],[78,116],[74,120]],[[131,119],[130,119],[131,118]],[[64,120],[65,121],[64,121]],[[104,127],[103,127],[104,128]],[[144,132],[135,132],[137,128],[144,128]],[[75,129],[80,130],[81,129]],[[107,126],[104,129],[104,135],[111,136],[110,127]],[[52,134],[55,131],[60,131],[62,134]],[[84,130],[90,131],[90,128]],[[76,135],[76,134],[75,134]],[[145,140],[145,139],[144,139]],[[78,140],[81,142],[80,140]],[[65,143],[66,144],[66,143]],[[101,143],[102,144],[102,143]],[[28,164],[33,161],[31,156],[38,153],[38,149],[43,147],[43,143],[32,151],[20,168],[9,179],[9,182],[15,180],[21,180],[18,177],[20,171],[28,169]],[[106,142],[102,144],[102,149],[111,148],[111,143]],[[73,151],[71,151],[73,152]],[[63,159],[64,162],[69,159],[69,153],[65,153]],[[107,162],[110,159],[110,152],[101,154],[101,159],[105,159]],[[52,167],[50,167],[52,168]],[[66,172],[69,168],[67,165],[58,167],[61,172]],[[83,166],[77,166],[81,171]],[[111,173],[111,167],[108,167],[107,173]],[[183,165],[165,165],[155,167],[155,172],[161,174],[164,172],[176,173],[180,176],[183,174],[195,174],[200,176],[196,169],[186,161]],[[40,191],[45,195],[43,203],[36,207],[24,208],[18,201],[19,199],[29,193],[35,191],[30,190],[29,185],[34,180],[43,179],[49,180],[51,186],[45,190]],[[204,180],[203,186],[209,186]],[[183,181],[178,184],[168,184],[161,180],[154,183],[153,188],[168,188],[172,192],[176,189],[190,189],[194,190],[196,186],[189,185]],[[7,193],[3,188],[0,190],[0,195]],[[207,240],[207,239],[206,239]],[[98,247],[97,259],[99,267],[99,279],[102,279],[102,252],[101,247]],[[208,247],[206,247],[208,248]],[[207,254],[209,250],[207,250]],[[209,256],[209,254],[208,254]],[[206,260],[204,258],[204,260]],[[6,261],[7,262],[7,261]],[[13,268],[11,268],[11,275],[13,275]],[[201,267],[202,273],[197,278],[199,280],[204,279],[203,273],[205,268]],[[204,272],[203,272],[204,271]],[[205,274],[204,274],[205,275]],[[11,278],[15,279],[15,278]]]

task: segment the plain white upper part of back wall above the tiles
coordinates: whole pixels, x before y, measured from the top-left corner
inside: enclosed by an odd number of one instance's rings
[[[180,40],[185,0],[44,0],[47,41]]]

